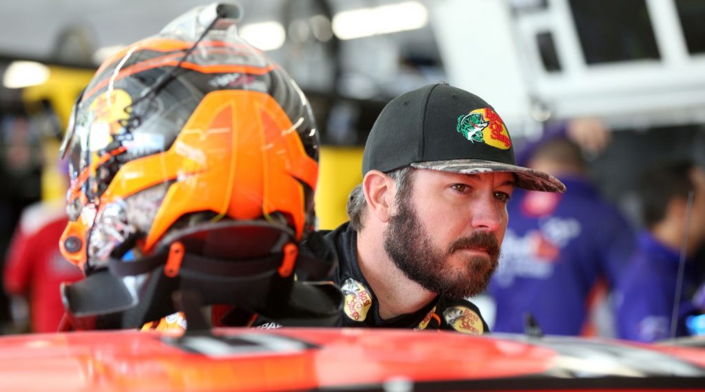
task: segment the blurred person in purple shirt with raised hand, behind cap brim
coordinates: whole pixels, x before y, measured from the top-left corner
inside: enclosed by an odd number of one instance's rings
[[[494,331],[524,332],[530,314],[543,333],[595,334],[590,304],[615,285],[634,243],[630,223],[603,200],[583,158],[583,152],[596,154],[608,142],[609,130],[600,121],[579,119],[547,128],[517,154],[517,161],[551,173],[568,190],[514,193],[503,255],[489,288],[496,304]],[[609,334],[614,328],[602,329]]]

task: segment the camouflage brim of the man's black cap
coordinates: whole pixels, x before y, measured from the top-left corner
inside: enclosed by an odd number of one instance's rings
[[[489,173],[491,171],[505,171],[516,174],[517,188],[539,190],[541,192],[565,192],[565,185],[563,185],[558,178],[553,177],[548,173],[522,166],[502,164],[495,161],[484,161],[482,159],[456,159],[453,161],[416,162],[411,164],[411,166],[416,169],[430,169],[461,174],[479,174]]]

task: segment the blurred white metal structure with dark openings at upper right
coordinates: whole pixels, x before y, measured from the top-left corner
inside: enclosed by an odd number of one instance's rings
[[[630,1],[632,8],[648,13],[643,24],[653,30],[657,58],[599,62],[586,59],[580,35],[593,32],[578,30],[575,17],[583,16],[571,9],[573,3],[439,1],[434,28],[450,79],[490,102],[497,95],[498,111],[512,117],[508,122],[532,114],[537,101],[556,118],[600,116],[615,129],[705,123],[705,53],[689,51],[677,8],[687,1]],[[615,15],[619,10],[610,2],[601,3],[606,17],[625,22],[637,18]],[[700,13],[704,6],[699,6]],[[591,21],[597,37],[604,33],[599,31],[603,22]],[[548,71],[542,61],[538,37],[547,33],[560,70]],[[618,32],[611,39],[625,39],[626,34],[625,27],[623,35]]]

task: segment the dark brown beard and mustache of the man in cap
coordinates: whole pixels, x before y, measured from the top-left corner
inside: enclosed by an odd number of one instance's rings
[[[453,299],[477,295],[487,288],[499,259],[499,245],[494,235],[475,231],[443,250],[431,242],[407,200],[400,200],[398,206],[398,214],[391,217],[384,233],[384,249],[407,278],[433,293]],[[448,265],[447,260],[453,253],[471,247],[484,248],[489,260],[469,256],[460,270]]]

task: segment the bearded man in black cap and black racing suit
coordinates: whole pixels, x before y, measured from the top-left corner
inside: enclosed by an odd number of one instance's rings
[[[565,191],[516,166],[492,106],[446,83],[385,106],[362,175],[350,221],[325,235],[338,255],[343,326],[488,331],[465,298],[482,293],[497,267],[514,188]]]

